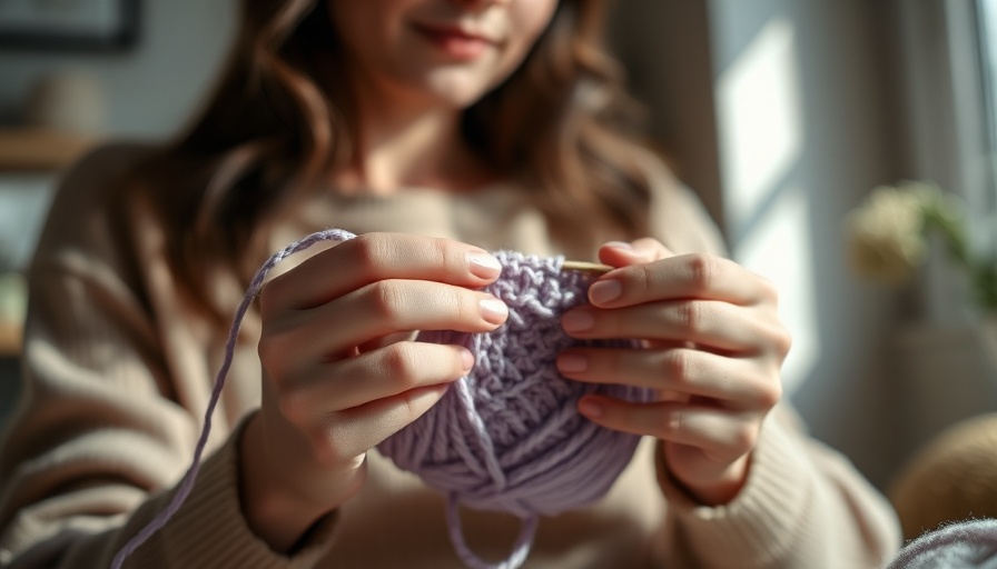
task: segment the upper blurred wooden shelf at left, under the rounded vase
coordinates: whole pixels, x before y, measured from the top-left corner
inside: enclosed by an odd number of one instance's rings
[[[76,162],[96,144],[86,137],[42,129],[0,129],[0,171],[51,171]]]

